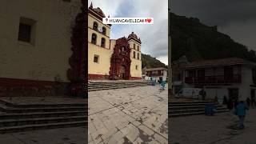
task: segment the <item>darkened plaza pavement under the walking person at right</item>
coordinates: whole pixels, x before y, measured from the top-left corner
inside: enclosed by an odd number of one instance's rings
[[[170,118],[173,144],[256,144],[256,109],[246,115],[246,128],[238,130],[238,118],[231,112],[214,116]]]

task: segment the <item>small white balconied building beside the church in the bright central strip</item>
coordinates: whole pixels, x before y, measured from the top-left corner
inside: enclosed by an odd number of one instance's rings
[[[167,70],[164,67],[146,69],[146,80],[167,81]]]

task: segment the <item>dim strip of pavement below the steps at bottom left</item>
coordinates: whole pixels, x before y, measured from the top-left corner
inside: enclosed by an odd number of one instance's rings
[[[1,144],[86,144],[86,128],[71,127],[0,134]]]

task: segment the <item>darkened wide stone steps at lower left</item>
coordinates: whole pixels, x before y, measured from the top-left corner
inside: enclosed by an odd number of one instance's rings
[[[87,104],[17,105],[0,100],[0,134],[86,126]]]

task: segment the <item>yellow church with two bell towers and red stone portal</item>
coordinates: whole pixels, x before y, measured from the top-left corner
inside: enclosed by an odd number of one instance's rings
[[[110,39],[106,15],[90,4],[88,9],[89,80],[132,80],[142,78],[141,39],[134,32],[126,38]]]

